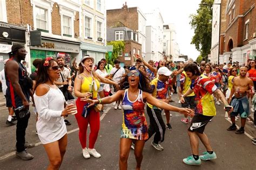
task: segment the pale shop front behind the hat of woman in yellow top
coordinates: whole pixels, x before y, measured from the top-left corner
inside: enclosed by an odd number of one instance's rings
[[[81,44],[82,54],[90,55],[95,59],[95,64],[98,64],[98,62],[105,58],[105,53],[107,52],[107,47],[103,45],[96,45],[91,43],[82,42]]]

